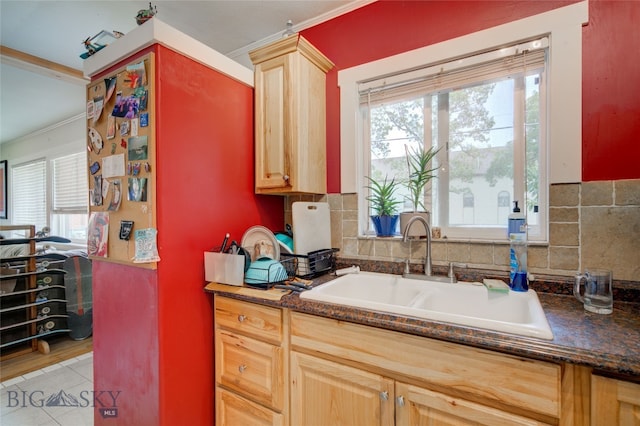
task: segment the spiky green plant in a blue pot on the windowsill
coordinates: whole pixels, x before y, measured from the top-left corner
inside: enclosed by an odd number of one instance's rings
[[[389,180],[385,176],[382,182],[373,178],[369,179],[369,196],[367,200],[371,203],[374,214],[371,221],[378,237],[391,237],[394,235],[396,224],[398,223],[398,205],[401,201],[395,198],[396,191],[400,185],[395,179]]]

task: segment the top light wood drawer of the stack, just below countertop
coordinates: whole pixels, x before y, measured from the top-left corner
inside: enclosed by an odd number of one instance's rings
[[[280,344],[282,310],[225,297],[215,298],[217,327],[239,331],[257,339]]]

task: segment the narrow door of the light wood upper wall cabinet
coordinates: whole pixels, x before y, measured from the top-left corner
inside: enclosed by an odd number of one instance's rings
[[[291,174],[289,56],[256,66],[256,188],[287,188]]]

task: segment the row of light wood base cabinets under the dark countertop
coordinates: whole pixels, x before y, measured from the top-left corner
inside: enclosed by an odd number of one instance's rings
[[[640,384],[215,297],[216,424],[640,426]]]

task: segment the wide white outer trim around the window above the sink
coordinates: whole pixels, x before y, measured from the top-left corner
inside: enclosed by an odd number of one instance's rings
[[[579,182],[582,176],[582,25],[587,22],[588,2],[584,1],[339,71],[341,192],[361,194],[365,186],[363,170],[368,155],[361,143],[360,83],[544,34],[550,40],[547,184]],[[368,219],[366,199],[362,196],[358,197],[358,210],[359,235],[364,235]]]

